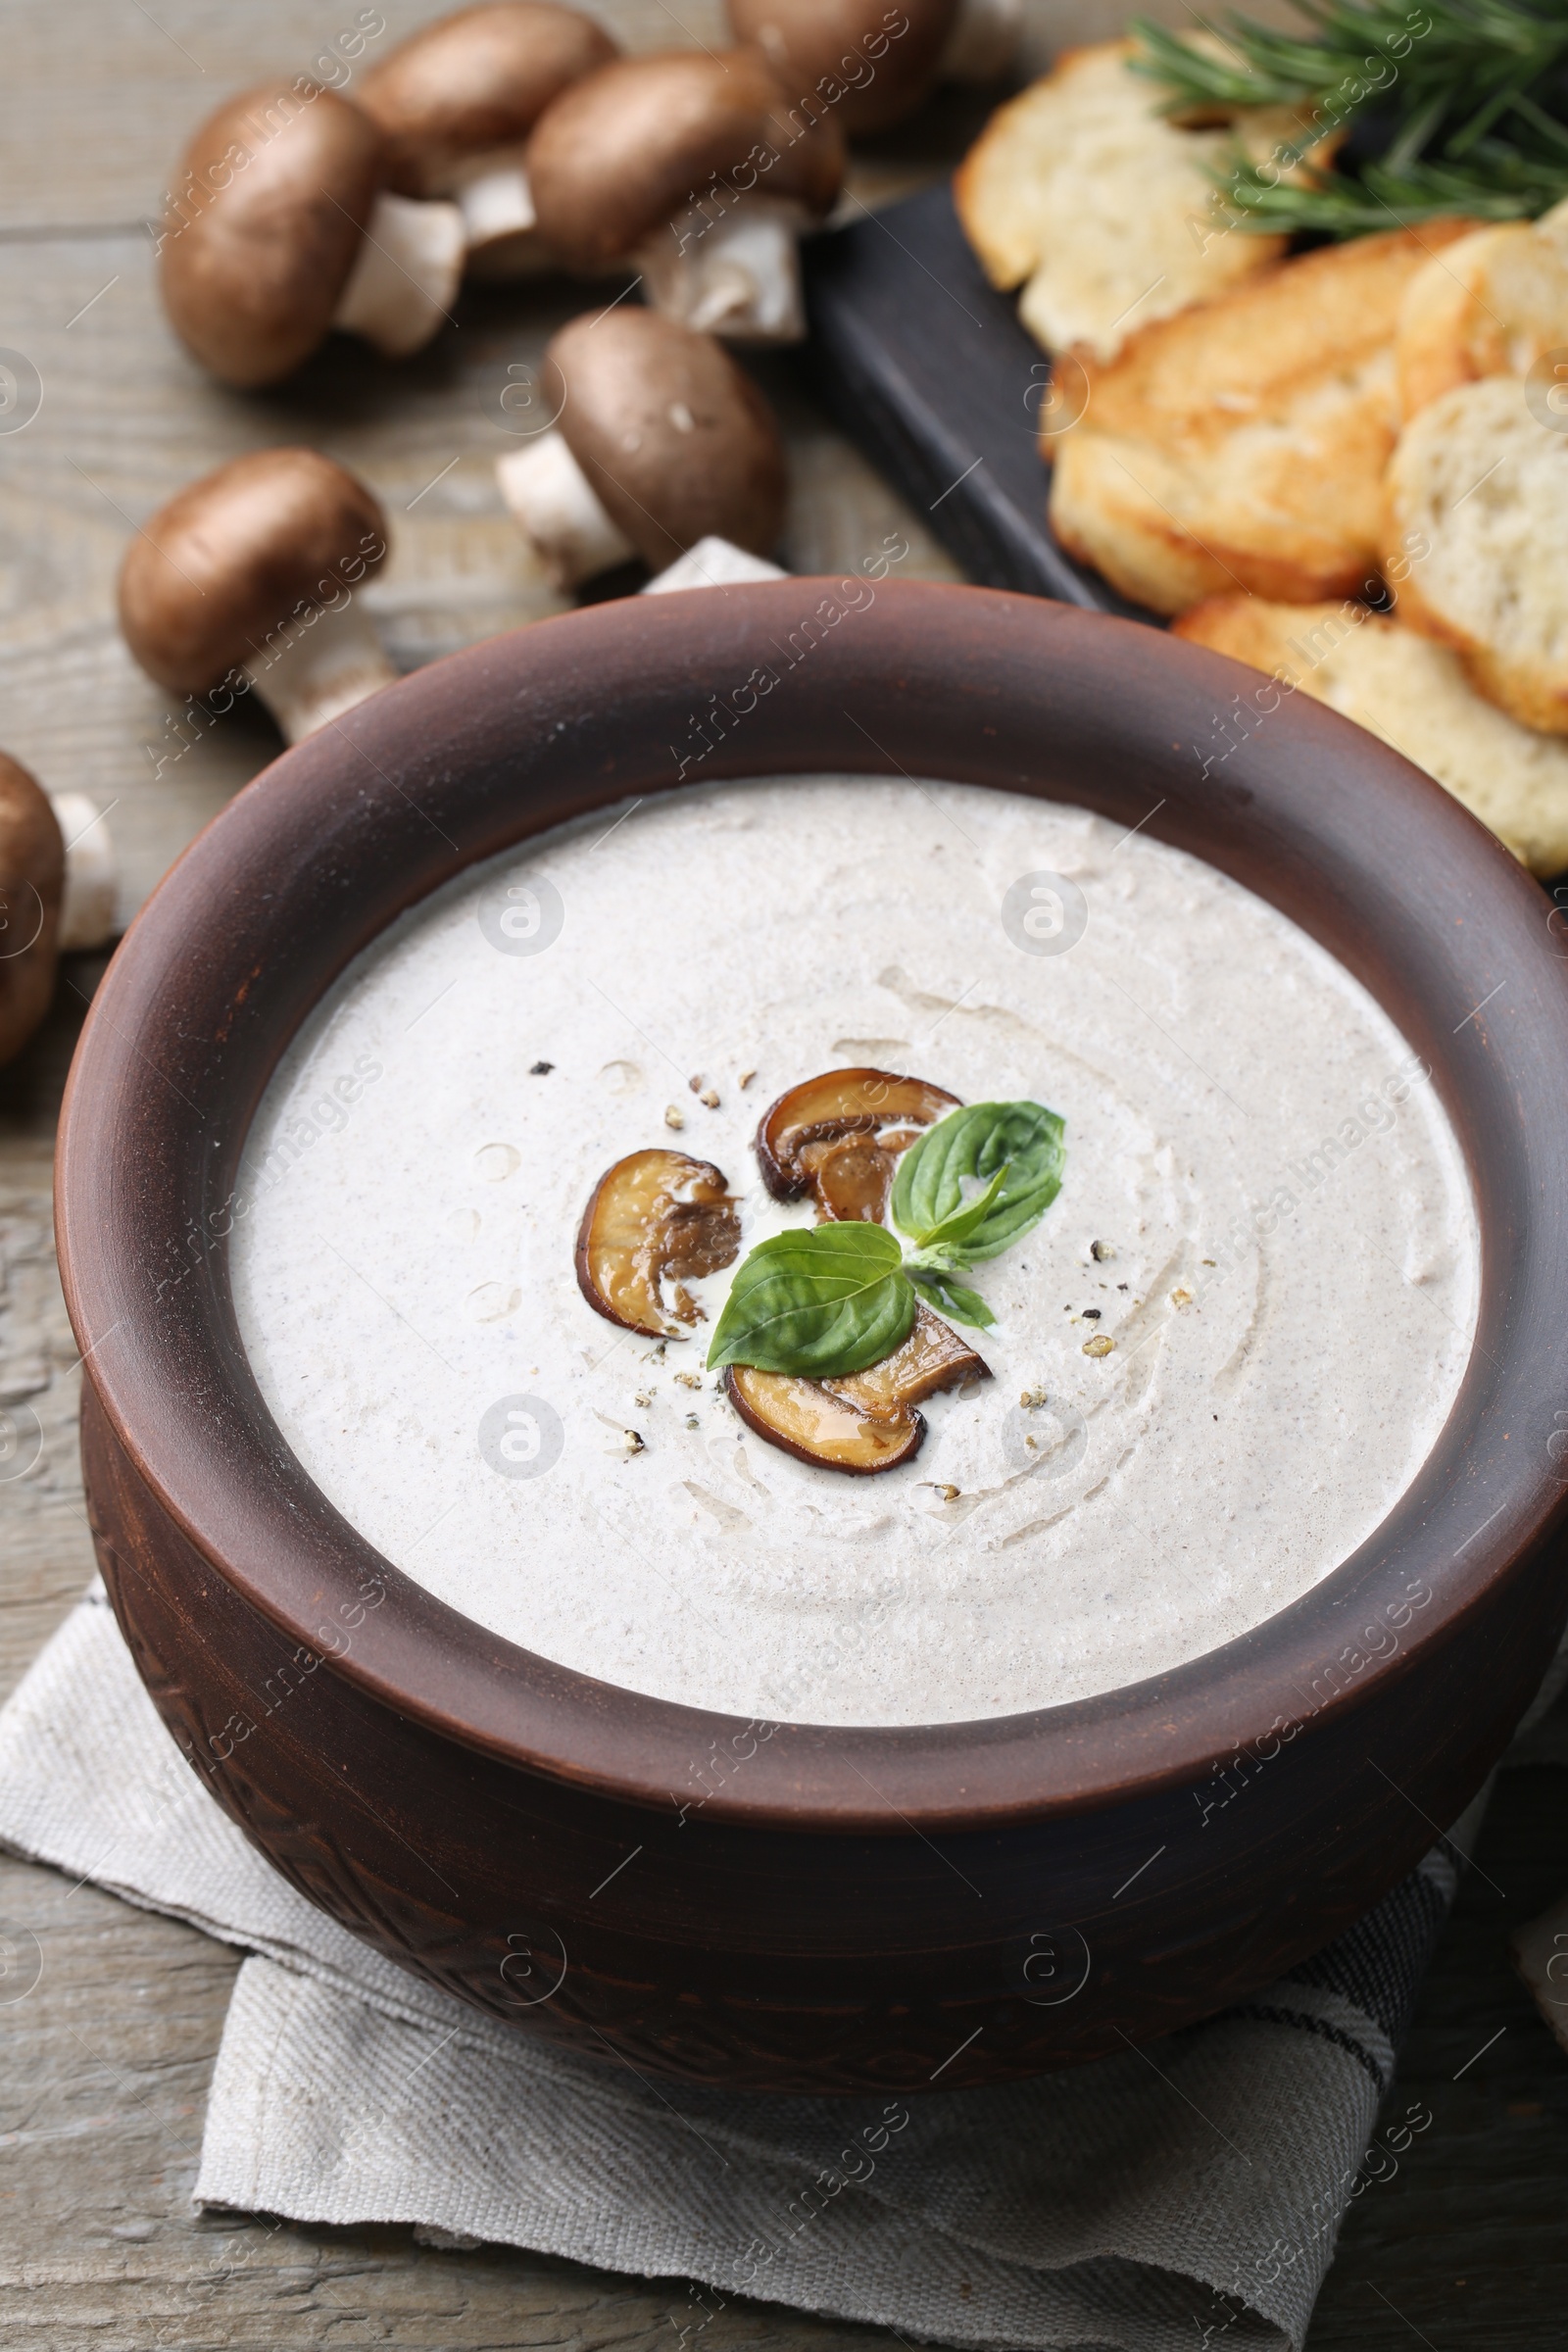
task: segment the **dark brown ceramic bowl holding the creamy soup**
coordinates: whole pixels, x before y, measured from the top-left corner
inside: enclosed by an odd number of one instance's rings
[[[1467,1152],[1483,1305],[1436,1451],[1305,1599],[1159,1679],[994,1722],[771,1736],[592,1682],[378,1557],[242,1355],[226,1204],[322,990],[465,863],[675,786],[691,713],[764,663],[778,687],[705,779],[910,771],[1147,821],[1382,1000]],[[947,2089],[1234,2002],[1474,1795],[1566,1606],[1568,943],[1490,835],[1373,736],[1300,694],[1220,734],[1258,689],[1154,630],[976,588],[882,586],[858,612],[802,579],[639,597],[378,694],[165,880],[66,1103],[92,1519],[176,1740],[343,1926],[642,2072]],[[682,1806],[698,1785],[708,1802]]]

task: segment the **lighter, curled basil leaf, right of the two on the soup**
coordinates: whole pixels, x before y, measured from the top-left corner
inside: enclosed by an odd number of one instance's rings
[[[969,1103],[929,1127],[898,1162],[893,1223],[917,1247],[943,1232],[964,1200],[964,1176],[1001,1185],[985,1216],[961,1235],[964,1256],[994,1258],[1037,1225],[1063,1188],[1063,1120],[1044,1103]],[[943,1240],[952,1237],[952,1228]]]

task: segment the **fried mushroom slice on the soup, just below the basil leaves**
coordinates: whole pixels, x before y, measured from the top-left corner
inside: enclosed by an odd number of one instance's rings
[[[924,1305],[893,1355],[844,1381],[802,1381],[750,1364],[731,1364],[724,1374],[729,1402],[771,1446],[860,1477],[896,1470],[919,1454],[926,1416],[914,1406],[961,1381],[990,1381],[990,1364]]]

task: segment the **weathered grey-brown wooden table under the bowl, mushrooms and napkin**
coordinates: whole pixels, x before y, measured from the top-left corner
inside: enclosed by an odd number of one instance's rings
[[[381,12],[390,45],[428,7],[381,0]],[[259,713],[183,748],[169,699],[118,640],[125,543],[181,482],[277,440],[310,440],[355,466],[393,520],[374,604],[404,668],[557,609],[505,520],[491,463],[508,445],[496,407],[505,369],[538,358],[552,325],[581,306],[569,294],[473,292],[458,329],[404,367],[343,348],[261,395],[205,383],[162,325],[143,223],[183,136],[247,80],[308,71],[357,14],[348,0],[0,0],[0,346],[21,350],[42,381],[38,416],[0,433],[0,743],[52,790],[113,802],[127,913],[277,748]],[[604,0],[602,14],[632,47],[719,38],[712,0]],[[1070,12],[1034,0],[1032,54],[1044,61],[1119,16],[1112,0]],[[858,195],[919,186],[961,153],[973,122],[973,103],[929,111],[858,165]],[[790,567],[837,569],[903,529],[905,574],[954,576],[922,517],[827,426],[797,369],[771,362],[764,379],[792,456]],[[0,1075],[0,1402],[28,1399],[47,1432],[38,1470],[0,1486],[0,1691],[92,1573],[47,1188],[59,1091],[99,969],[89,957],[68,964],[49,1025]],[[1500,1785],[1394,2093],[1422,2098],[1434,2126],[1401,2173],[1354,2206],[1312,2352],[1568,2343],[1568,2063],[1505,1947],[1509,1926],[1568,1879],[1566,1792],[1547,1764]],[[35,1936],[42,1952],[28,1997],[0,2004],[7,2345],[590,2352],[670,2340],[679,2281],[442,2253],[407,2230],[193,2218],[235,1952],[94,1886],[0,1860],[7,1929]],[[764,2305],[731,2305],[712,2338],[712,2352],[893,2345]]]

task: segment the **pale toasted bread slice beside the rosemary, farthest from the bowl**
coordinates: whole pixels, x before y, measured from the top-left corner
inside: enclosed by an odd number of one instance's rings
[[[1027,278],[1018,315],[1048,353],[1110,360],[1135,327],[1255,278],[1284,238],[1232,226],[1211,172],[1237,139],[1258,160],[1295,153],[1300,120],[1239,108],[1229,125],[1182,129],[1159,85],[1128,68],[1131,40],[1067,49],[997,108],[959,165],[954,198],[997,287]]]

